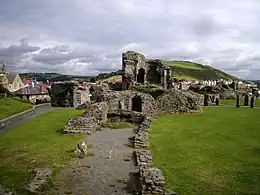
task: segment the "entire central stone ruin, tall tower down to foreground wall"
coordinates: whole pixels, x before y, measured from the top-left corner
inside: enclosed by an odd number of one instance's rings
[[[63,131],[91,134],[108,120],[127,121],[137,125],[134,129],[133,147],[136,148],[142,194],[165,194],[165,178],[152,164],[152,155],[148,151],[152,117],[201,112],[203,96],[171,88],[171,72],[160,60],[145,60],[141,54],[126,52],[123,54],[123,69],[122,86],[128,90],[97,90],[95,98],[81,105],[87,111],[68,121]],[[142,91],[142,87],[138,88],[140,83],[157,87],[150,92]]]

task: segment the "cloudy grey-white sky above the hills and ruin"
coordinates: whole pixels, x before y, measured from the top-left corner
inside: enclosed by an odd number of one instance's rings
[[[127,50],[260,79],[260,0],[0,0],[9,71],[110,72]]]

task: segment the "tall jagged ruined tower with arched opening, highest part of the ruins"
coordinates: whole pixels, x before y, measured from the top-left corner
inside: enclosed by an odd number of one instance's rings
[[[171,68],[162,60],[147,60],[145,56],[127,51],[122,55],[122,89],[130,89],[136,83],[172,87]]]

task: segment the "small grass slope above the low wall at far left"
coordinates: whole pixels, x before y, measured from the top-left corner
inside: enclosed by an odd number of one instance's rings
[[[29,108],[32,108],[31,104],[12,98],[0,98],[0,119],[25,111]]]

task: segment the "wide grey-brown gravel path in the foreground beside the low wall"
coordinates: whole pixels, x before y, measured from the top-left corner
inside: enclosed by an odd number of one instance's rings
[[[56,177],[52,194],[124,195],[138,188],[129,138],[133,129],[103,129],[88,136],[94,156],[79,159]]]

